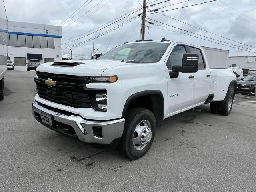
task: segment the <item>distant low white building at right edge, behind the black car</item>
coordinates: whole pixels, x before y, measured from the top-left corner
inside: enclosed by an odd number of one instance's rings
[[[240,68],[244,75],[256,72],[256,56],[244,55],[228,58],[228,67]]]

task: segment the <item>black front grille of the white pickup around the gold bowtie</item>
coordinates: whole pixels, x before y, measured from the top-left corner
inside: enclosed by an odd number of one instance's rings
[[[45,80],[56,81],[55,86],[48,86]],[[88,94],[106,93],[106,90],[90,90],[87,76],[74,76],[37,72],[35,77],[38,95],[46,100],[75,108],[91,108]]]

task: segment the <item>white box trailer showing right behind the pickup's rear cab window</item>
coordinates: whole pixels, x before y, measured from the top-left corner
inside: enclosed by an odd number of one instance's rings
[[[227,68],[229,50],[201,46],[210,68]]]

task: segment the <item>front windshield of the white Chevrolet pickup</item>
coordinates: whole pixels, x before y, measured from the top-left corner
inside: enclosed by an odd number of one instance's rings
[[[169,43],[131,43],[117,46],[99,59],[124,60],[124,62],[158,62]]]

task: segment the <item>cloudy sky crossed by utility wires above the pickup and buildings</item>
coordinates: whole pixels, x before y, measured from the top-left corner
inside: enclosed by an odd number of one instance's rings
[[[164,1],[165,0],[147,0],[147,4],[152,5]],[[230,56],[256,55],[256,53],[252,53],[256,52],[256,48],[254,48],[256,47],[255,0],[218,0],[202,5],[175,9],[209,0],[185,1],[186,0],[170,0],[148,7],[146,21],[151,21],[155,23],[155,25],[151,25],[148,22],[146,23],[148,26],[146,28],[146,39],[161,40],[162,37],[165,37],[166,39],[188,42],[200,46],[226,49],[230,50]],[[131,22],[116,28],[115,31],[112,30],[95,38],[94,48],[98,49],[97,53],[104,53],[106,50],[110,50],[118,44],[140,39],[141,17],[137,17],[137,15],[142,12],[142,10],[138,9],[141,7],[140,4],[142,4],[142,0],[5,0],[5,4],[8,20],[51,25],[61,24],[62,53],[66,54],[65,56],[70,55],[70,48],[72,48],[72,54],[75,55],[73,58],[80,59],[90,57],[90,50],[92,50],[93,44],[93,34],[90,33],[94,32],[94,36],[98,36],[116,27],[117,24],[121,25],[129,19],[131,19]],[[80,6],[82,7],[79,8]],[[161,12],[161,14],[150,14],[152,13],[150,10],[157,8],[161,8],[159,12],[164,10],[169,11]],[[75,12],[76,10],[78,11]],[[133,10],[138,11],[132,13]],[[127,16],[128,12],[132,14]],[[72,18],[69,18],[71,15]],[[99,30],[107,26],[108,24],[106,23],[119,18],[121,15],[127,17]],[[66,20],[67,18],[68,20]],[[62,24],[63,21],[64,23]],[[111,23],[112,22],[109,24]],[[194,36],[210,41],[220,40],[222,42],[219,42],[221,44],[216,44]],[[79,44],[81,42],[84,43]],[[226,43],[229,43],[228,45],[233,47],[236,47],[234,45],[240,46],[237,48],[242,50],[222,45]],[[70,47],[75,44],[78,45]]]

